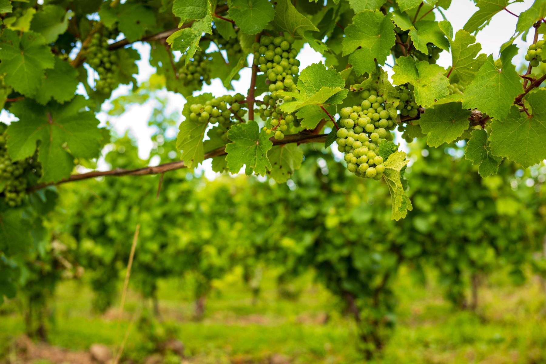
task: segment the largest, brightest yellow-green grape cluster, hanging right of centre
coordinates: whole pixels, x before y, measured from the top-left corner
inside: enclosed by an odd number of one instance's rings
[[[347,169],[359,177],[381,179],[385,167],[383,157],[377,155],[378,145],[383,140],[393,140],[389,130],[395,122],[384,110],[383,97],[375,90],[361,93],[364,99],[360,106],[343,108],[340,111],[337,130],[337,150],[345,153]]]

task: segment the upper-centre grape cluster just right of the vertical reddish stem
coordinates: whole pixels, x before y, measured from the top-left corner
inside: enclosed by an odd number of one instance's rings
[[[283,37],[262,35],[259,43],[254,43],[254,64],[265,73],[269,81],[269,92],[281,90],[295,91],[294,75],[299,73],[300,62],[296,59],[298,51],[292,48],[295,39],[290,34]]]

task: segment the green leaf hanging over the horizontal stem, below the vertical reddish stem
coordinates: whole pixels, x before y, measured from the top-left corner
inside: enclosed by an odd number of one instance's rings
[[[251,120],[248,124],[236,124],[229,129],[228,139],[232,141],[225,146],[228,153],[225,160],[228,162],[228,170],[236,174],[245,164],[245,174],[252,172],[264,176],[267,170],[271,170],[268,151],[273,146],[268,134],[260,132],[258,123]]]

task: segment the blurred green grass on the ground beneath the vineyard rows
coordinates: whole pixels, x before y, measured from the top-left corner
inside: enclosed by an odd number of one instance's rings
[[[207,300],[202,321],[192,320],[191,289],[177,280],[161,282],[159,305],[165,322],[175,325],[192,363],[264,362],[284,354],[292,363],[361,363],[355,326],[343,317],[339,302],[311,276],[294,284],[305,287],[297,301],[278,298],[275,272],[266,272],[263,291],[252,305],[250,291],[234,277],[217,282],[221,288]],[[498,277],[497,277],[498,276]],[[499,278],[501,277],[501,278]],[[498,274],[480,288],[476,313],[455,309],[442,299],[434,279],[416,284],[400,272],[397,327],[377,363],[541,363],[546,362],[545,293],[535,278],[513,287]],[[92,292],[87,285],[64,282],[52,300],[48,323],[50,341],[71,350],[87,350],[92,343],[115,347],[141,298],[130,292],[126,315],[117,324],[117,307],[105,315],[91,313]],[[116,304],[117,305],[117,304]],[[8,343],[24,331],[14,303],[0,317],[0,342]],[[321,323],[329,315],[326,324]],[[141,360],[147,343],[133,326],[127,357]],[[7,350],[7,345],[0,345]]]

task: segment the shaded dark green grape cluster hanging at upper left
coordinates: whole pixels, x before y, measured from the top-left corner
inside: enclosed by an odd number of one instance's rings
[[[95,83],[95,89],[102,93],[110,93],[116,87],[115,68],[117,56],[108,50],[110,32],[94,33],[87,49],[87,63],[97,71],[99,79]]]

